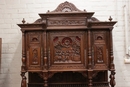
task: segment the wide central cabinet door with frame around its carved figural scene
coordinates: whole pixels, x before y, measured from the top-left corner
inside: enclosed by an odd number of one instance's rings
[[[85,69],[84,31],[50,32],[50,69]]]

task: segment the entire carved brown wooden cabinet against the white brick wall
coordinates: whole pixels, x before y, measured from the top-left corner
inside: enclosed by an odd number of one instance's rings
[[[111,17],[108,22],[99,21],[93,14],[66,1],[54,11],[40,13],[34,23],[18,24],[21,87],[114,87],[112,29],[116,22]]]

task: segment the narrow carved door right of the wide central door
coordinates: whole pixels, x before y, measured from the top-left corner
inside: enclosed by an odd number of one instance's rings
[[[109,31],[92,31],[92,58],[94,69],[108,68]]]

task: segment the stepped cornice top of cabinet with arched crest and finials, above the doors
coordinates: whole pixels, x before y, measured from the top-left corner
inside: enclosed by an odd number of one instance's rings
[[[91,28],[111,28],[116,23],[109,18],[109,22],[101,22],[92,17],[94,12],[81,11],[72,3],[61,3],[54,11],[40,13],[40,19],[34,23],[18,24],[22,30],[59,30],[59,29],[90,29]],[[98,26],[98,27],[97,27]]]

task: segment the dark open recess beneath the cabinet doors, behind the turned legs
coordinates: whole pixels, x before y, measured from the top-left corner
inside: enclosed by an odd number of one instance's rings
[[[107,71],[93,71],[92,87],[110,87]],[[47,80],[48,87],[89,87],[87,72],[57,72]],[[28,87],[43,87],[44,80],[39,73],[29,72]]]

